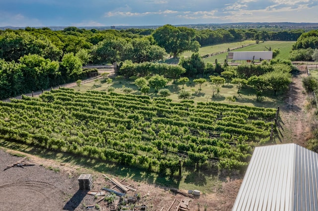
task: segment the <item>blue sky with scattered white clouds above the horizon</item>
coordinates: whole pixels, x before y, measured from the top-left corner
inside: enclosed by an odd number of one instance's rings
[[[318,22],[318,0],[0,0],[0,26]]]

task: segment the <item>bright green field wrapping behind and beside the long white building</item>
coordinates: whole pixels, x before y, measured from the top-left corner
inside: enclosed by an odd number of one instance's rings
[[[267,48],[279,49],[280,53],[277,55],[277,58],[281,59],[288,59],[289,52],[292,50],[293,44],[295,42],[293,41],[266,41],[263,43],[259,43],[257,45],[247,46],[244,48],[240,48],[237,50],[234,50],[235,52],[243,52],[243,51],[267,51]],[[204,59],[204,62],[215,62],[215,59],[218,59],[219,62],[223,62],[227,58],[227,52],[226,53],[220,53],[218,55],[211,56],[209,58]]]

